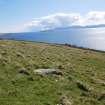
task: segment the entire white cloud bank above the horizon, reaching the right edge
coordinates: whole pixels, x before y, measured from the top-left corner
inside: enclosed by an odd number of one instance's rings
[[[91,11],[82,16],[79,13],[56,13],[35,18],[24,25],[22,31],[42,31],[74,25],[87,26],[105,24],[105,12]]]

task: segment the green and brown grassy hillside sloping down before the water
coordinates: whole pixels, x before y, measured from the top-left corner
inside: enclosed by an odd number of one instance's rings
[[[34,74],[40,68],[62,75]],[[105,105],[105,53],[0,41],[0,105],[57,105],[63,96],[71,105]]]

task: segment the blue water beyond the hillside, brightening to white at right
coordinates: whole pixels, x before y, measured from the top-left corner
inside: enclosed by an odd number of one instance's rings
[[[45,32],[6,34],[0,37],[48,43],[68,43],[105,51],[105,28],[63,28]]]

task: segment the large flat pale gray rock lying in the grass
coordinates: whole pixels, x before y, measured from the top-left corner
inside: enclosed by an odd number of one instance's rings
[[[58,69],[36,69],[34,73],[39,75],[62,75],[62,72]]]

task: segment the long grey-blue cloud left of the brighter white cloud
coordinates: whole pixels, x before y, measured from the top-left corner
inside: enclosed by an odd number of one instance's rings
[[[48,30],[57,27],[67,27],[74,25],[79,19],[79,14],[57,13],[54,15],[34,19],[28,24],[25,24],[25,27],[26,30],[29,31]]]

